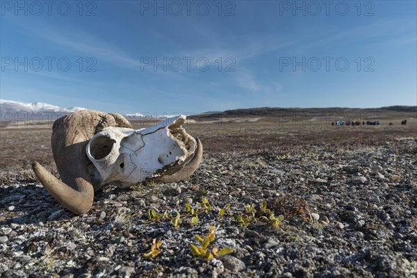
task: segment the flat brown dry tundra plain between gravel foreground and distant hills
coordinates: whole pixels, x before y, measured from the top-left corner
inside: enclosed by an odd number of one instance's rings
[[[236,120],[236,119],[234,119]],[[188,133],[199,137],[205,154],[219,152],[251,152],[278,149],[286,153],[289,146],[311,148],[327,145],[335,152],[353,147],[382,145],[395,138],[416,138],[416,119],[407,126],[331,126],[326,122],[312,124],[304,120],[282,122],[277,117],[263,117],[258,122],[236,122],[227,119],[211,122],[190,121],[184,125]],[[398,122],[393,119],[391,122]],[[138,129],[156,122],[133,122]],[[51,128],[13,127],[0,129],[0,171],[29,169],[33,161],[54,168],[51,152]],[[416,152],[416,150],[411,150]]]

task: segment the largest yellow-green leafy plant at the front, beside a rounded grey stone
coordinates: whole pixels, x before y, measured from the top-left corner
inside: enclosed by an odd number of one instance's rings
[[[208,249],[208,245],[213,243],[215,239],[215,231],[220,227],[214,227],[210,226],[210,232],[202,238],[201,236],[195,235],[194,238],[198,242],[198,246],[191,244],[190,249],[193,256],[197,256],[199,258],[206,259],[207,261],[210,261],[213,259],[213,257],[218,258],[222,255],[227,255],[233,252],[233,250],[229,247],[223,248],[222,250],[218,250],[218,248],[213,247],[213,249],[210,251]],[[213,254],[212,254],[213,252]]]

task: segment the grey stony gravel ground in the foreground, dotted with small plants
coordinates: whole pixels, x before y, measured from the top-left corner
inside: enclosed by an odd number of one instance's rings
[[[33,172],[3,172],[0,276],[416,277],[416,154],[414,139],[210,154],[78,216]]]

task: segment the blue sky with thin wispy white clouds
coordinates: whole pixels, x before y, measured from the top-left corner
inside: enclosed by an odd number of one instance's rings
[[[1,1],[1,99],[157,114],[416,105],[416,14],[416,1]]]

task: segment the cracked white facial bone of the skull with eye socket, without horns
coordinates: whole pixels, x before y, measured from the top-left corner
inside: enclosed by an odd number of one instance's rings
[[[111,126],[95,134],[86,154],[95,165],[95,187],[112,183],[129,187],[181,170],[197,147],[196,140],[181,127],[179,115],[146,129]]]

